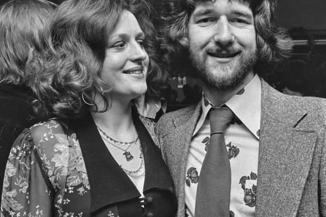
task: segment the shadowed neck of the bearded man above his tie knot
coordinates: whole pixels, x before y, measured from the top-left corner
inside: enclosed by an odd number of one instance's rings
[[[225,104],[229,99],[236,95],[244,86],[246,86],[253,78],[255,74],[248,73],[246,78],[243,79],[238,85],[230,88],[219,89],[208,85],[205,82],[200,82],[203,88],[203,92],[208,100],[216,107],[220,107]]]

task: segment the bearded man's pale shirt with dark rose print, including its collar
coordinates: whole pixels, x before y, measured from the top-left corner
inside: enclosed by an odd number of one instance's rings
[[[253,80],[225,103],[236,115],[225,133],[225,144],[231,164],[232,216],[254,216],[257,188],[258,149],[261,112],[261,84]],[[197,183],[210,138],[208,111],[214,105],[204,96],[202,114],[197,122],[186,165],[186,214],[194,216]]]

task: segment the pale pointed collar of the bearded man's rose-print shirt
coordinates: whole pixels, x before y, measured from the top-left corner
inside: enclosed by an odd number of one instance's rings
[[[209,110],[214,107],[205,96],[203,96],[201,104],[202,114],[197,122],[193,136],[203,126]],[[258,75],[255,75],[254,78],[238,92],[238,94],[234,95],[224,105],[228,106],[241,120],[243,125],[246,126],[257,139],[259,139],[261,83]]]

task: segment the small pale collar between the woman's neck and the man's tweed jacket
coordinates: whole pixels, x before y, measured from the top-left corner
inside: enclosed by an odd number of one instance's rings
[[[154,119],[159,109],[163,112],[167,110],[167,101],[165,99],[155,100],[150,97],[142,95],[133,100],[133,105],[137,109],[138,113],[144,117]]]

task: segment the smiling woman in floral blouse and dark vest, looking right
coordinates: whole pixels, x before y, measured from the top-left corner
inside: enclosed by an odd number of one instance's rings
[[[29,67],[37,72],[39,114],[55,119],[15,141],[4,216],[175,215],[172,179],[150,120],[160,106],[149,99],[158,99],[166,75],[154,61],[147,7],[143,0],[59,6],[48,49]]]

